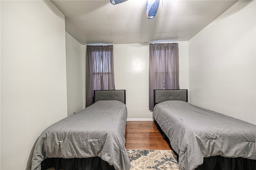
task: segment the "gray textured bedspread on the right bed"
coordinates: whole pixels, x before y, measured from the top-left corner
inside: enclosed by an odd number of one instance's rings
[[[158,103],[153,117],[178,153],[182,170],[216,155],[256,160],[256,125],[184,101]]]

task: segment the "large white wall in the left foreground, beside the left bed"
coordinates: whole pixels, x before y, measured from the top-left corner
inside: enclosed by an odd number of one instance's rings
[[[1,170],[24,170],[36,138],[67,116],[64,15],[50,1],[1,3]]]

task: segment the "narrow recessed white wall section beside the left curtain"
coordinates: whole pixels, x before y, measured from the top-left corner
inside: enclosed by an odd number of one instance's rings
[[[66,32],[68,116],[84,109],[82,45]]]

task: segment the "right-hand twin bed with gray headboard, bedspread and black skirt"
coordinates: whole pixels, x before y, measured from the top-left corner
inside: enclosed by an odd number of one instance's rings
[[[256,170],[256,125],[191,105],[187,90],[154,90],[154,104],[181,170]]]

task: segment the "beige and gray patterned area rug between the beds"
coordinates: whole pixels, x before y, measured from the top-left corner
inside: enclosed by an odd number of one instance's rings
[[[180,170],[172,150],[127,150],[130,170]]]

